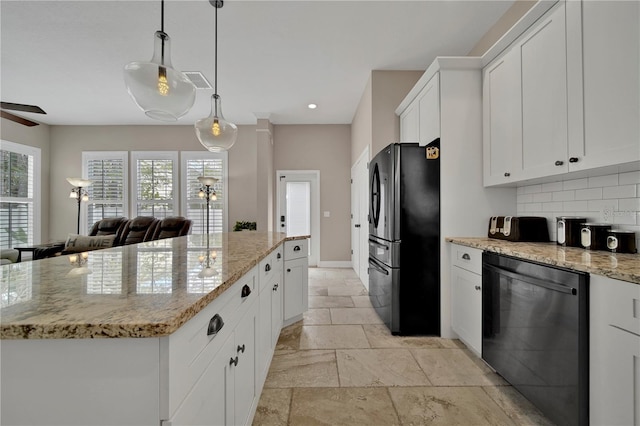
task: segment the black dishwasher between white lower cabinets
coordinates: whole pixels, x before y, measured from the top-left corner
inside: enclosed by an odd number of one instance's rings
[[[482,358],[559,425],[589,424],[588,281],[482,255]]]

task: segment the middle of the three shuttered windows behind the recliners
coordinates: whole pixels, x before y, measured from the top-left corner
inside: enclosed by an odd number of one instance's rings
[[[131,153],[132,193],[135,203],[131,217],[153,216],[164,219],[176,216],[178,193],[177,152]]]

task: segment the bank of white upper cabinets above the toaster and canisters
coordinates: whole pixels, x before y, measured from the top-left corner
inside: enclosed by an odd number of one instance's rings
[[[640,3],[560,1],[518,31],[483,70],[484,185],[639,162]]]

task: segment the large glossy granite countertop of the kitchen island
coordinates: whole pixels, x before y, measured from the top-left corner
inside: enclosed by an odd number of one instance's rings
[[[4,265],[0,338],[160,337],[176,331],[287,238],[283,233],[209,235],[216,274],[200,277],[206,235],[189,235]],[[80,259],[80,256],[76,256]],[[202,274],[200,274],[202,275]]]

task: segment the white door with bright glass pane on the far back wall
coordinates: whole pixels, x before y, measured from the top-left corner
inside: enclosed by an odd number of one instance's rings
[[[276,230],[288,237],[310,235],[309,266],[320,258],[320,172],[279,170]]]

